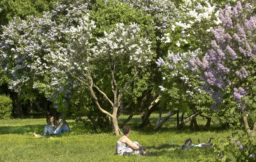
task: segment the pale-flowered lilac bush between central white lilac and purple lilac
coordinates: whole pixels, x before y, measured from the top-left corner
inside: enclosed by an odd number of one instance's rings
[[[156,64],[163,76],[159,86],[163,95],[161,104],[189,114],[204,112],[210,118],[213,116],[209,109],[212,98],[201,89],[203,80],[191,65],[192,58],[198,55],[201,55],[201,49],[177,54],[169,51],[165,60],[157,59]]]

